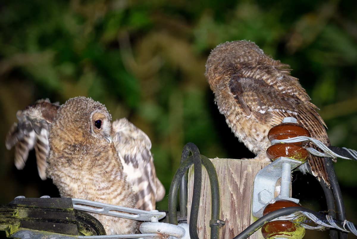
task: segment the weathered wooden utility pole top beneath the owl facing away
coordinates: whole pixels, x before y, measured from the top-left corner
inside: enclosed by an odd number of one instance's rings
[[[255,175],[270,162],[254,159],[211,159],[220,184],[221,215],[226,225],[220,229],[220,239],[229,239],[246,229],[256,218],[251,214],[252,187]],[[193,170],[188,172],[188,220],[193,194]],[[211,189],[206,169],[202,167],[201,201],[198,211],[197,230],[199,238],[210,238]],[[250,239],[263,239],[256,231]]]

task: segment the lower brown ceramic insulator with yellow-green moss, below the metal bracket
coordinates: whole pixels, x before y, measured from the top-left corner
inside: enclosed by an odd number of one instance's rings
[[[275,203],[268,204],[263,211],[263,215],[275,211],[277,209],[286,208],[290,206],[300,206],[293,201],[279,200]],[[301,239],[305,235],[305,228],[299,223],[301,220],[296,218],[289,221],[270,221],[262,227],[262,235],[266,239],[273,238],[294,238]]]

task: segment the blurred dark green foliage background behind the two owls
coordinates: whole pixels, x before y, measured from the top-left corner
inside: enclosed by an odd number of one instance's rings
[[[16,111],[40,98],[90,96],[114,119],[128,118],[149,135],[167,191],[187,142],[210,158],[252,157],[218,113],[204,77],[208,54],[225,41],[254,41],[290,64],[321,108],[332,145],[357,149],[356,10],[348,0],[0,3],[0,203],[58,196],[37,176],[33,153],[18,171],[4,143]],[[340,159],[335,168],[347,217],[357,223],[357,163]],[[301,177],[302,203],[325,209],[322,191],[311,186],[318,184]],[[167,209],[167,198],[158,208]]]

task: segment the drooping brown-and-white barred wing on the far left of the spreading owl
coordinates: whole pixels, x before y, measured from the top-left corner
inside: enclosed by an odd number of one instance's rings
[[[52,123],[58,103],[48,99],[37,100],[34,104],[16,113],[18,123],[14,123],[6,136],[7,149],[15,146],[15,166],[23,169],[29,151],[35,148],[37,170],[42,180],[46,179],[47,153],[49,152],[49,126]]]

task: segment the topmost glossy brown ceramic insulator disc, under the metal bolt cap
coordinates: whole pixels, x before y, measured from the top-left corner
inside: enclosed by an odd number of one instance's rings
[[[304,127],[295,123],[282,123],[271,128],[268,133],[268,139],[270,141],[273,139],[290,139],[296,136],[310,137],[310,132]],[[292,144],[305,146],[307,143],[308,141],[303,141]]]

